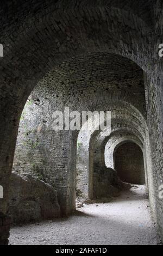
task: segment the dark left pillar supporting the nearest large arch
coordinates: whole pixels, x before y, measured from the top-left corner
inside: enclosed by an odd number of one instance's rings
[[[8,245],[10,217],[8,214],[9,185],[21,109],[14,105],[14,96],[0,103],[0,185],[3,198],[0,199],[0,245]]]

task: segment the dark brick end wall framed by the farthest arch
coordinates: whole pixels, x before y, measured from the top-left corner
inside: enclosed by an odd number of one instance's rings
[[[136,143],[124,142],[115,148],[114,168],[123,182],[145,184],[143,152]]]

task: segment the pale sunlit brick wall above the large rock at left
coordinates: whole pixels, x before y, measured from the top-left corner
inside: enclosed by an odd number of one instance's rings
[[[52,129],[52,114],[57,104],[48,93],[43,96],[41,90],[35,90],[28,99],[18,130],[13,170],[19,174],[30,173],[53,185],[58,191],[61,211],[66,214],[67,161],[71,139],[68,131],[55,132]]]

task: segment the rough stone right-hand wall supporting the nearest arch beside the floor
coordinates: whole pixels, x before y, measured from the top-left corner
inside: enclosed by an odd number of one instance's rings
[[[163,201],[159,198],[159,186],[163,182],[162,178],[162,66],[154,67],[154,72],[145,76],[146,78],[146,94],[147,108],[148,108],[148,124],[149,124],[149,137],[152,150],[152,165],[153,173],[151,174],[151,186],[149,186],[152,194],[152,209],[153,214],[158,224],[161,237],[163,234]],[[149,96],[151,95],[151,96]],[[153,185],[153,186],[152,186]],[[163,237],[162,237],[163,239]]]

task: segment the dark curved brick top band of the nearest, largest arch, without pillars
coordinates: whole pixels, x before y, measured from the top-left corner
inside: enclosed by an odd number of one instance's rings
[[[128,11],[116,9],[115,7],[108,8],[107,5],[104,5],[104,7],[96,7],[96,15],[93,15],[90,9],[84,11],[82,7],[80,7],[81,9],[68,8],[65,12],[60,11],[58,13],[58,11],[56,11],[56,5],[52,5],[53,8],[46,8],[43,5],[43,11],[38,11],[38,14],[36,12],[34,16],[30,16],[29,23],[28,15],[27,17],[23,16],[23,22],[17,24],[19,29],[15,30],[12,26],[10,27],[10,29],[14,31],[13,35],[11,33],[12,36],[8,36],[5,30],[3,31],[3,75],[5,71],[10,70],[10,76],[8,74],[8,80],[4,82],[4,86],[7,83],[11,83],[12,79],[14,79],[17,84],[15,89],[21,87],[22,93],[20,92],[18,96],[21,97],[21,101],[22,97],[24,97],[22,101],[23,104],[26,102],[27,95],[29,96],[35,84],[49,70],[63,60],[80,55],[81,53],[83,54],[83,52],[101,51],[116,53],[132,59],[145,69],[143,65],[146,63],[145,56],[147,56],[147,54],[146,48],[143,47],[143,45],[146,44],[145,32],[149,34],[151,30],[140,18],[136,17],[134,14],[131,15]],[[111,21],[117,19],[117,13],[119,18],[114,24],[114,22]],[[73,20],[71,20],[70,14],[72,14]],[[77,22],[76,17],[82,19],[83,22],[85,21],[83,27],[82,22]],[[31,19],[33,19],[35,26],[31,24]],[[129,27],[129,21],[131,20],[133,20],[133,23],[132,26]],[[70,23],[69,26],[66,25],[66,21],[68,25]],[[96,26],[98,23],[101,25],[97,29]],[[129,28],[126,29],[125,26]],[[72,35],[70,35],[70,39],[67,39],[70,34],[70,28]],[[145,31],[143,32],[144,38],[142,38],[142,33],[140,34],[140,29]],[[93,38],[91,38],[91,34]],[[104,36],[106,36],[106,38],[104,38]],[[71,37],[73,39],[72,41]],[[127,40],[131,41],[131,44],[128,44]],[[139,44],[138,40],[140,40]],[[23,62],[21,59],[22,54],[24,56]],[[14,62],[14,57],[16,63]],[[1,76],[2,80],[3,75]],[[23,92],[23,87],[26,95]]]

